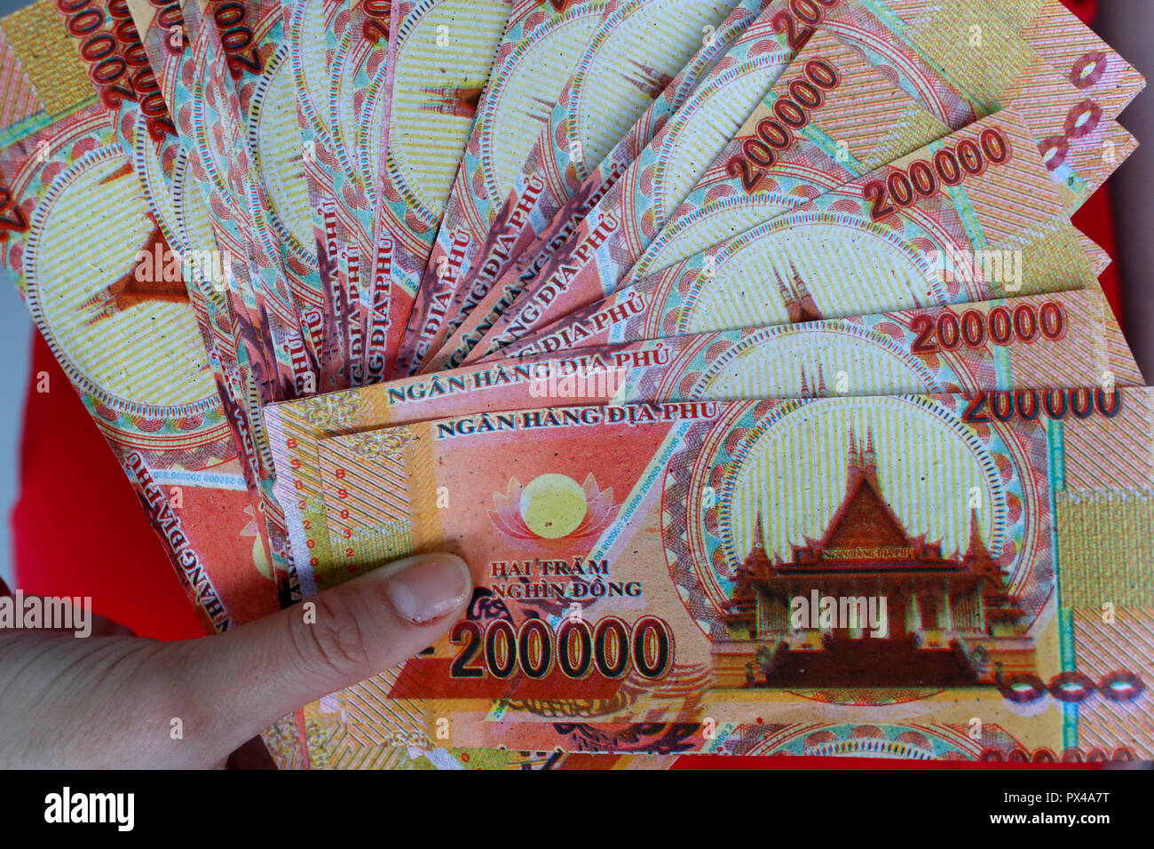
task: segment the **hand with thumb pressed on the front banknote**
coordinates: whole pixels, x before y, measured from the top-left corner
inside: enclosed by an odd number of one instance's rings
[[[422,554],[308,599],[315,624],[297,605],[182,642],[99,617],[88,638],[0,631],[0,768],[224,767],[301,705],[433,645],[472,588],[460,558]]]

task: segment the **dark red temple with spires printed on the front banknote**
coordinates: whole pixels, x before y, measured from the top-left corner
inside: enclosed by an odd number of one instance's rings
[[[734,583],[729,640],[714,643],[721,686],[966,686],[1033,671],[976,509],[965,552],[912,536],[878,482],[872,431],[850,441],[845,497],[820,538],[771,556],[758,512]],[[802,604],[817,628],[795,627]],[[887,627],[869,621],[878,605]]]

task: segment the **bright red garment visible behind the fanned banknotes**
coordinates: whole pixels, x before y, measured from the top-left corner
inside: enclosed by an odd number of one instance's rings
[[[1096,0],[1066,0],[1066,5],[1089,21]],[[1079,210],[1074,224],[1115,255],[1104,189]],[[1102,284],[1121,315],[1112,267]],[[39,372],[50,374],[51,392],[36,392]],[[143,635],[200,635],[197,619],[132,486],[39,335],[32,374],[21,496],[12,516],[16,586],[28,593],[91,596],[96,612]]]

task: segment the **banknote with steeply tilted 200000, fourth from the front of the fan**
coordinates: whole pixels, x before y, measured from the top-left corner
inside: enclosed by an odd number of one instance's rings
[[[953,107],[941,111],[961,114],[961,96],[953,95]],[[891,66],[867,61],[857,45],[833,30],[815,33],[660,232],[613,244],[608,262],[597,262],[597,273],[606,286],[616,288],[609,281],[627,282],[661,270],[949,135],[951,127],[923,105],[927,102],[924,96],[907,95]],[[673,191],[680,194],[676,187]],[[608,196],[606,202],[614,200]],[[645,210],[642,219],[650,213],[645,201],[638,209]],[[617,217],[625,215],[632,214],[621,210]],[[625,224],[619,233],[631,229]],[[619,233],[608,239],[620,241]],[[578,229],[575,238],[586,236]],[[580,265],[567,247],[560,248],[541,271],[542,284],[556,263],[569,274]]]

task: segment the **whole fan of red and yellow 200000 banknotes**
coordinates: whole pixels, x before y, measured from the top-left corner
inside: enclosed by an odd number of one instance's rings
[[[207,631],[478,590],[283,766],[1154,758],[1154,395],[1057,0],[38,0],[0,238]],[[547,754],[541,754],[547,753]]]

